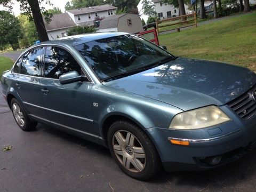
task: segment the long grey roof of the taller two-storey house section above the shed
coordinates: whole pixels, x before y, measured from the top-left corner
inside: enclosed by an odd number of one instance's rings
[[[67,12],[72,13],[74,15],[80,15],[80,14],[86,14],[86,13],[94,13],[94,12],[100,12],[100,11],[106,11],[106,10],[113,10],[117,9],[117,7],[112,5],[99,5],[99,6],[92,6],[92,7],[84,7],[81,9],[75,9],[75,10],[68,10]]]

